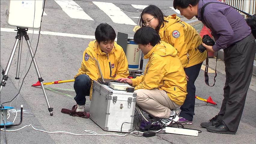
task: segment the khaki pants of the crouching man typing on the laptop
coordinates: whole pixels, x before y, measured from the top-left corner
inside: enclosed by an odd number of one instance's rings
[[[171,110],[180,107],[170,100],[164,90],[138,89],[134,92],[137,93],[136,105],[154,117],[169,118]]]

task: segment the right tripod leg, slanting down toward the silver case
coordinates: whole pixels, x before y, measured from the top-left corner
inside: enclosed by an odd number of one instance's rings
[[[28,36],[27,34],[25,34],[24,37],[25,37],[26,42],[27,42],[27,44],[28,44],[28,46],[29,46],[30,55],[31,55],[31,57],[33,58],[33,57],[34,57],[34,53],[33,53],[33,50],[32,50],[32,48],[31,48],[31,46],[30,46],[29,36]],[[40,84],[41,84],[41,88],[42,88],[43,93],[44,93],[44,98],[45,98],[45,100],[46,100],[47,107],[48,107],[48,110],[49,110],[49,112],[50,112],[50,116],[53,116],[53,113],[52,113],[53,108],[50,107],[50,103],[49,103],[49,101],[48,101],[48,97],[47,97],[46,92],[45,92],[45,89],[44,89],[44,84],[43,84],[43,81],[44,81],[44,80],[42,79],[42,77],[41,77],[41,75],[40,75],[40,72],[39,72],[37,63],[36,63],[36,61],[35,61],[35,58],[33,58],[33,63],[34,63],[34,65],[35,65],[35,70],[36,70],[36,73],[37,73],[37,76],[38,76],[38,80],[39,80],[39,82],[40,82]]]

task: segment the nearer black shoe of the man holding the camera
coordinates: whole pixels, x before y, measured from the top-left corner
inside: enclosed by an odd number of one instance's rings
[[[206,129],[209,132],[212,133],[218,133],[218,134],[236,134],[234,131],[229,131],[227,128],[227,125],[222,121],[220,125],[218,126],[210,126]]]

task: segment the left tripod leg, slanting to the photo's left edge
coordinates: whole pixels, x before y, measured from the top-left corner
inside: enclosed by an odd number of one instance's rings
[[[2,72],[2,74],[3,74],[4,76],[3,76],[3,79],[2,79],[1,84],[0,84],[0,92],[2,91],[3,86],[5,86],[5,84],[6,84],[5,81],[8,79],[8,76],[7,76],[7,75],[8,75],[9,69],[10,69],[10,67],[11,67],[11,62],[12,62],[12,60],[13,60],[14,53],[15,53],[15,51],[16,51],[16,49],[17,49],[17,46],[18,46],[19,41],[20,41],[20,39],[19,39],[19,38],[16,38],[16,41],[15,41],[15,44],[14,44],[14,46],[13,46],[13,49],[12,49],[10,58],[9,58],[9,60],[8,60],[6,69],[5,69],[5,71],[3,70],[3,72]]]

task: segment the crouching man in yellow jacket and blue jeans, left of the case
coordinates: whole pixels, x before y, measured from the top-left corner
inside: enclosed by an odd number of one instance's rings
[[[93,80],[99,78],[94,58],[99,61],[104,79],[117,79],[129,76],[128,62],[123,51],[114,40],[114,29],[101,23],[95,30],[95,41],[91,41],[84,50],[83,60],[78,73],[75,75],[75,101],[78,105],[76,112],[84,112],[86,95],[92,95]]]

